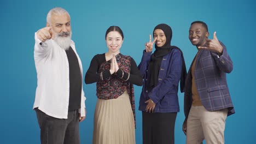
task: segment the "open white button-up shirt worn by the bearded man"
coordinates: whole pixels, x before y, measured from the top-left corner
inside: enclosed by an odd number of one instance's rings
[[[53,39],[42,42],[37,38],[36,33],[34,39],[36,41],[34,45],[34,62],[37,70],[37,89],[33,109],[38,107],[46,115],[67,119],[69,65],[66,51]],[[81,77],[83,77],[82,63],[75,51],[73,41],[71,47],[75,55],[77,55]],[[85,116],[85,99],[82,84],[81,109],[79,109],[82,117]]]

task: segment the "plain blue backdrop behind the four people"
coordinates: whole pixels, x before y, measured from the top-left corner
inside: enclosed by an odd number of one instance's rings
[[[144,43],[159,23],[172,27],[172,45],[183,50],[187,69],[197,49],[188,39],[190,23],[208,24],[210,38],[226,45],[234,62],[227,75],[236,114],[227,118],[225,143],[254,143],[255,139],[255,2],[254,1],[1,1],[1,128],[0,143],[40,143],[36,113],[32,110],[37,86],[33,49],[34,32],[45,26],[51,8],[63,7],[71,15],[71,25],[84,74],[91,58],[107,51],[104,34],[109,26],[123,29],[121,52],[137,64]],[[253,66],[254,65],[254,66]],[[142,87],[135,86],[136,110]],[[81,143],[91,143],[96,105],[96,85],[84,85],[87,117],[80,123]],[[179,93],[181,112],[175,127],[176,143],[185,143],[182,131],[183,93]],[[136,111],[136,142],[142,143],[141,112]]]

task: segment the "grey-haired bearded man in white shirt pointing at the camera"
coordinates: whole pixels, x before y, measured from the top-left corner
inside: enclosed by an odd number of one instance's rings
[[[46,27],[35,34],[36,110],[41,143],[80,143],[79,122],[85,119],[83,68],[71,40],[70,16],[51,9]]]

